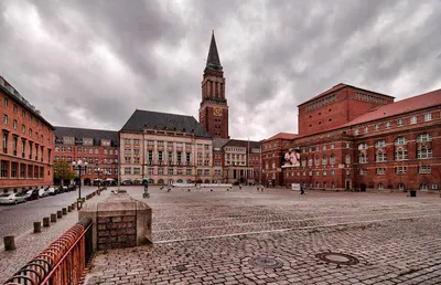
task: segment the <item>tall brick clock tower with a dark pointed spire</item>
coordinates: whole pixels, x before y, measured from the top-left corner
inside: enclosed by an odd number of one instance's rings
[[[225,77],[219,54],[217,53],[214,32],[202,81],[200,123],[213,138],[229,138]]]

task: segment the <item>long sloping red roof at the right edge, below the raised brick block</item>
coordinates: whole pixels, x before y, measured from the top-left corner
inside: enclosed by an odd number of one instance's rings
[[[370,120],[383,119],[405,113],[433,107],[437,105],[441,105],[441,89],[428,92],[418,96],[379,106],[356,117],[343,126],[358,125]]]

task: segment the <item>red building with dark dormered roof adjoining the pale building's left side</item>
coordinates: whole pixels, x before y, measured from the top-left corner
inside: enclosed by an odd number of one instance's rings
[[[87,170],[82,173],[83,184],[93,184],[95,179],[117,180],[118,151],[116,130],[55,127],[55,161],[71,165],[78,159],[87,161]]]

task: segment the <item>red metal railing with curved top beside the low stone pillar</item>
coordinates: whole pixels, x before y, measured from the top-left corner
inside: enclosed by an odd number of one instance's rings
[[[92,218],[83,218],[4,284],[79,284],[93,253]]]

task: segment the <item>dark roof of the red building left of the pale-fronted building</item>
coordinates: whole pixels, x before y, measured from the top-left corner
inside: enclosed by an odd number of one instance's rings
[[[112,146],[118,146],[118,130],[104,130],[104,129],[90,129],[90,128],[71,128],[55,126],[55,141],[63,139],[63,137],[75,137],[75,140],[83,138],[93,138],[95,142],[101,141],[101,139],[110,139]]]

